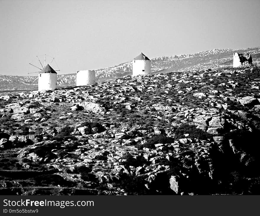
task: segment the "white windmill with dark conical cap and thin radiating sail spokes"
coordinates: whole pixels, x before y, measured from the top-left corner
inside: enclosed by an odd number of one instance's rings
[[[32,65],[33,67],[36,67],[40,69],[40,71],[36,72],[28,72],[30,73],[38,73],[38,77],[35,79],[38,79],[38,91],[42,90],[54,90],[57,88],[57,72],[60,70],[54,70],[50,65],[53,62],[53,60],[56,62],[56,60],[53,57],[47,56],[51,58],[51,61],[46,64],[46,55],[44,55],[44,65],[42,65],[40,59],[38,56],[36,56],[38,61],[40,62],[40,66],[36,66],[35,64],[29,63],[29,65]],[[56,63],[57,65],[57,63]],[[42,69],[40,68],[42,67]],[[57,65],[58,67],[58,65]],[[33,82],[35,82],[35,80]]]

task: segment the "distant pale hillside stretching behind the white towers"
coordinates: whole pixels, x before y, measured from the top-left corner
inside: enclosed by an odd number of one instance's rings
[[[202,69],[216,69],[218,68],[218,57],[220,58],[220,67],[230,67],[233,64],[233,53],[248,52],[252,54],[253,63],[260,65],[260,47],[248,49],[212,49],[209,51],[199,52],[190,55],[178,55],[170,57],[155,57],[151,59],[151,66],[153,73],[168,73],[168,72],[181,72]],[[99,83],[103,81],[111,81],[116,78],[121,78],[125,75],[132,74],[132,62],[126,62],[113,67],[96,70],[96,78]],[[38,89],[38,81],[35,76],[9,76],[0,75],[0,94],[1,91],[12,90],[26,90]],[[58,76],[58,86],[75,86],[76,73],[65,74]]]

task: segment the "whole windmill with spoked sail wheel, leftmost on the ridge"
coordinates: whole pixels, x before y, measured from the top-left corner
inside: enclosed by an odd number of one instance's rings
[[[47,58],[46,58],[47,56]],[[54,90],[57,88],[57,73],[56,71],[60,71],[57,65],[56,60],[48,55],[44,55],[44,64],[43,62],[43,56],[36,56],[37,60],[36,62],[30,62],[29,68],[28,68],[28,74],[32,73],[38,73],[38,77],[33,80],[32,83],[34,83],[38,79],[38,91],[41,90]],[[42,60],[42,62],[40,61]],[[49,63],[47,63],[49,62]],[[55,62],[55,64],[53,64]],[[58,70],[54,70],[52,67],[58,68]],[[56,66],[55,66],[56,65]],[[36,68],[38,71],[35,71]],[[34,71],[34,72],[31,72]]]

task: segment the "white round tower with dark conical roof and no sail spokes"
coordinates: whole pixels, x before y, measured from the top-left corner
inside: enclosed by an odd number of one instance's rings
[[[151,73],[151,60],[148,59],[143,53],[134,58],[133,61],[133,76],[150,74]]]

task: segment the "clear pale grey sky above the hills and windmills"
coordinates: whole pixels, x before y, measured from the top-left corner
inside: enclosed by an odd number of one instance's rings
[[[39,66],[36,56],[44,61],[45,54],[66,74],[141,52],[153,58],[257,47],[259,10],[259,0],[0,0],[0,74],[36,72],[29,62]]]

